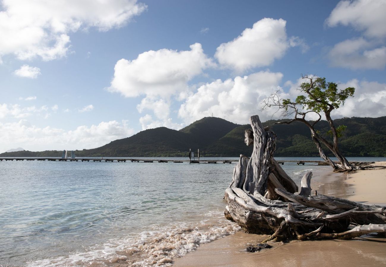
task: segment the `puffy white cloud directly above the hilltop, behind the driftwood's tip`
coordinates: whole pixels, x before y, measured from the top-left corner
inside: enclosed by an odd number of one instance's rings
[[[279,83],[283,74],[260,71],[249,76],[237,76],[234,80],[220,79],[207,83],[187,97],[178,111],[178,117],[186,124],[203,117],[220,117],[244,124],[251,114],[259,114],[262,120],[271,113],[261,112],[261,101],[274,91],[281,90]]]

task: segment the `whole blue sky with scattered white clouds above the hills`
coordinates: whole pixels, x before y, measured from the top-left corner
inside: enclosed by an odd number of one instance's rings
[[[90,149],[203,117],[279,118],[302,74],[386,114],[386,0],[0,0],[0,152]]]

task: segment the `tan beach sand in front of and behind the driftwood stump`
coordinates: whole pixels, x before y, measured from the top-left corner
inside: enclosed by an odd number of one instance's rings
[[[374,165],[386,166],[386,162]],[[331,173],[315,179],[312,188],[317,189],[319,194],[385,205],[386,169],[358,171],[349,175]],[[245,252],[245,247],[257,244],[266,237],[240,231],[202,245],[195,252],[176,259],[173,266],[386,266],[386,238],[377,235],[348,241],[273,243],[274,247],[265,251]]]

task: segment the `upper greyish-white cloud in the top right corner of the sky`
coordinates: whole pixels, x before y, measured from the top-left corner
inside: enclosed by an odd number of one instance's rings
[[[351,25],[357,30],[364,31],[368,37],[383,38],[386,37],[385,10],[384,0],[340,1],[326,23],[330,27],[339,24]]]

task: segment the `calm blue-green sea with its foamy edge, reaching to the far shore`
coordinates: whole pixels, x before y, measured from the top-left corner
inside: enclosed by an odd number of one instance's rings
[[[283,169],[298,185],[331,173],[295,163],[320,158],[276,159],[294,161]],[[171,266],[240,230],[223,215],[235,166],[0,161],[0,266]]]

